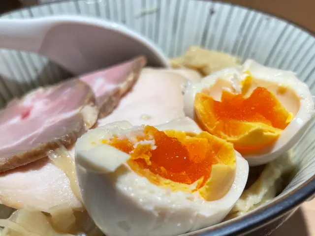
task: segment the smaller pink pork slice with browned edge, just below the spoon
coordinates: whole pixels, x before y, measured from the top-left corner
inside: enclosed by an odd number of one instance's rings
[[[121,96],[138,79],[146,63],[145,57],[137,57],[80,77],[80,80],[93,89],[99,107],[99,118],[107,116],[115,109]]]

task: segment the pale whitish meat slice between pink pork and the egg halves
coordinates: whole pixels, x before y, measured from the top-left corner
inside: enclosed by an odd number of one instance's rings
[[[188,69],[144,68],[137,83],[107,117],[98,125],[127,120],[132,125],[157,125],[184,117],[183,83],[200,80],[201,76]]]

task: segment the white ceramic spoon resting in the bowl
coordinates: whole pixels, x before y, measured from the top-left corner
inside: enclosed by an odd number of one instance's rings
[[[0,19],[0,48],[41,54],[75,75],[144,55],[148,65],[168,66],[145,37],[113,22],[82,16]]]

